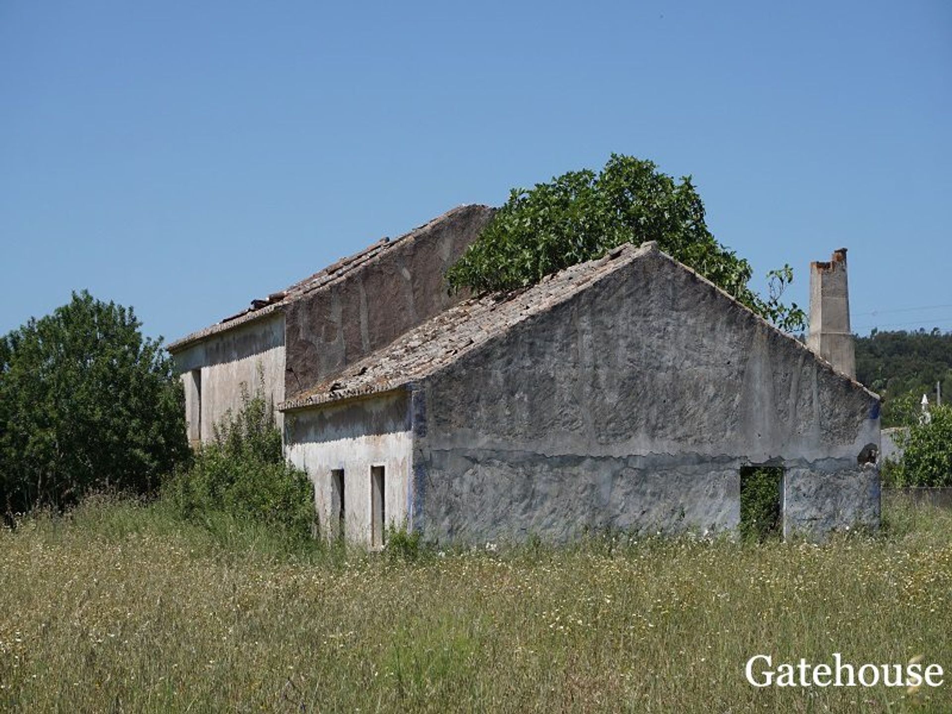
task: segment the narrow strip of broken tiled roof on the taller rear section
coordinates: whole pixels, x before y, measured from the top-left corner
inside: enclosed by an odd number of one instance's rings
[[[388,249],[393,248],[401,241],[411,240],[418,233],[423,232],[428,228],[432,228],[434,225],[440,223],[441,221],[445,221],[450,216],[466,208],[469,208],[469,205],[451,208],[450,210],[447,210],[446,213],[443,213],[431,221],[428,221],[423,226],[414,228],[399,238],[382,238],[371,246],[368,246],[367,248],[364,248],[353,255],[347,256],[347,258],[341,258],[336,263],[332,263],[331,265],[327,266],[327,268],[319,270],[304,280],[288,286],[288,288],[278,290],[277,292],[272,292],[268,294],[268,297],[266,298],[252,300],[250,307],[247,307],[241,312],[224,318],[221,322],[215,323],[209,327],[205,327],[204,329],[199,329],[187,335],[186,337],[175,340],[174,342],[169,343],[169,346],[166,348],[169,350],[169,352],[176,352],[180,349],[188,347],[192,343],[210,337],[211,335],[224,332],[225,330],[231,329],[232,327],[244,325],[253,320],[259,320],[261,318],[267,317],[268,315],[273,314],[284,307],[287,307],[288,304],[300,299],[308,293],[320,288],[324,288],[343,279],[349,273],[357,270],[358,268],[362,268],[374,258],[384,253]]]

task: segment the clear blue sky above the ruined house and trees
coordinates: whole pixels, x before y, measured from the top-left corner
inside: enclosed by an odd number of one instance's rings
[[[612,151],[802,305],[845,246],[858,331],[952,329],[947,0],[3,0],[0,332],[89,288],[174,339]]]

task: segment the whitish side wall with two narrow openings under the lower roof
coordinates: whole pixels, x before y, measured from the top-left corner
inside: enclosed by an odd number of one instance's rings
[[[385,468],[386,526],[406,526],[412,454],[407,393],[288,412],[286,454],[314,483],[324,536],[336,534],[331,470],[344,469],[346,536],[370,545],[370,469]]]

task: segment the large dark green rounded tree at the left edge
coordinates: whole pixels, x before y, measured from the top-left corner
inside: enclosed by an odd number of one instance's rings
[[[147,492],[188,458],[182,388],[139,327],[83,291],[0,338],[0,511]]]

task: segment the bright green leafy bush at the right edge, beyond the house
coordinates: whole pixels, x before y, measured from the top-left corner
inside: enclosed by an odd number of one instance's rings
[[[902,458],[892,469],[896,486],[952,486],[952,407],[929,407],[928,423],[896,435]]]

